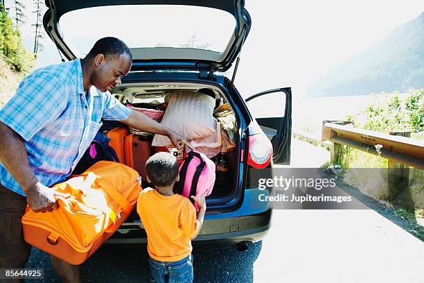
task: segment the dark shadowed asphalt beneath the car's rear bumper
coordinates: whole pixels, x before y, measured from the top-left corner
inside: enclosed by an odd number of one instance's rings
[[[233,248],[194,250],[195,282],[253,282],[253,264],[261,246],[261,242],[251,244],[246,252]],[[44,268],[43,282],[60,282],[50,257],[40,250],[33,249],[27,267]],[[84,282],[149,282],[145,247],[103,246],[82,264],[82,273]]]

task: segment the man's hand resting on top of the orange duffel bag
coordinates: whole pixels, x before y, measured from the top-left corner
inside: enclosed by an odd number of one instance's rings
[[[62,194],[37,182],[34,187],[28,189],[26,202],[34,212],[51,212],[58,208],[57,197],[68,198],[69,195]]]

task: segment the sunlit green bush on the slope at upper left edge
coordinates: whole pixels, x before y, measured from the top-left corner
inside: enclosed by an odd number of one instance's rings
[[[0,58],[15,71],[28,73],[35,65],[35,54],[26,51],[21,33],[13,26],[8,13],[0,4]]]

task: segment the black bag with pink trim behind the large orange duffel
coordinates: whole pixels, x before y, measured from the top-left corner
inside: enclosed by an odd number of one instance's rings
[[[80,175],[100,160],[118,162],[118,156],[114,148],[109,146],[109,141],[109,137],[98,132],[94,140],[91,141],[91,145],[87,148],[87,151],[82,155],[75,169],[73,169],[72,174]]]

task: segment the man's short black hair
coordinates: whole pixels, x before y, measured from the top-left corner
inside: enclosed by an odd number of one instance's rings
[[[116,37],[103,37],[98,40],[87,54],[87,57],[94,58],[98,54],[105,55],[107,59],[117,59],[120,55],[127,55],[132,60],[132,54],[127,44]]]

